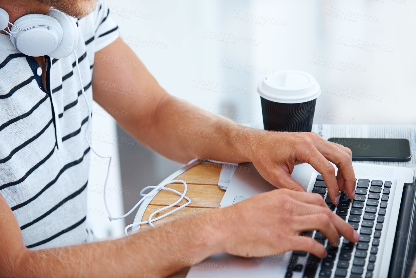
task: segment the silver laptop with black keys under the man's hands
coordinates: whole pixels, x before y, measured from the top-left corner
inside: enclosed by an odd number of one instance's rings
[[[322,176],[309,164],[296,165],[292,178],[307,192],[322,195],[334,213],[356,229],[361,239],[339,246],[328,245],[319,231],[305,231],[322,243],[327,258],[302,252],[241,258],[225,253],[193,265],[187,278],[399,278],[413,277],[416,251],[415,172],[409,168],[352,163],[357,178],[356,199],[340,197],[333,205]],[[275,189],[252,163],[241,163],[230,181],[220,206],[225,207],[255,194]],[[413,272],[412,272],[413,271]]]

